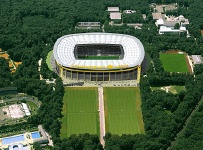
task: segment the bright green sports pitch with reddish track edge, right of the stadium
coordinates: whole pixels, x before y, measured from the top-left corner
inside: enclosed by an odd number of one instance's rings
[[[164,70],[168,72],[189,72],[184,54],[160,54]]]

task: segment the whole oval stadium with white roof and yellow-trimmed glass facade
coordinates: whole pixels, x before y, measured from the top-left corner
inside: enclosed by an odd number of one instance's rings
[[[125,34],[80,33],[59,38],[53,50],[56,72],[83,81],[140,79],[145,51],[139,39]]]

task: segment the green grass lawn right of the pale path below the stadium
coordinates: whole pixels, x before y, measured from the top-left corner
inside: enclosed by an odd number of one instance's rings
[[[104,88],[106,132],[144,133],[141,98],[136,87]]]

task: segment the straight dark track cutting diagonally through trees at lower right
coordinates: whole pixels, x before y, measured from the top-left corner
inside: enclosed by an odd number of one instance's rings
[[[196,107],[193,109],[193,111],[191,112],[190,116],[187,118],[187,120],[185,121],[185,125],[183,126],[182,130],[180,132],[178,132],[178,134],[175,137],[175,140],[171,142],[171,146],[167,148],[167,150],[172,150],[173,146],[176,144],[176,140],[178,139],[178,137],[183,133],[183,131],[185,130],[185,128],[187,127],[188,123],[190,122],[191,118],[193,117],[194,113],[196,111],[198,111],[198,108],[200,106],[200,104],[203,102],[203,97],[201,98],[201,100],[197,103]]]

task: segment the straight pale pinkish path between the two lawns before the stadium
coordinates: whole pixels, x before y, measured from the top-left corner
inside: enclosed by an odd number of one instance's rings
[[[105,141],[103,137],[105,136],[105,116],[104,116],[104,98],[103,98],[103,87],[98,87],[98,95],[99,95],[99,122],[100,122],[100,142],[105,145]]]

